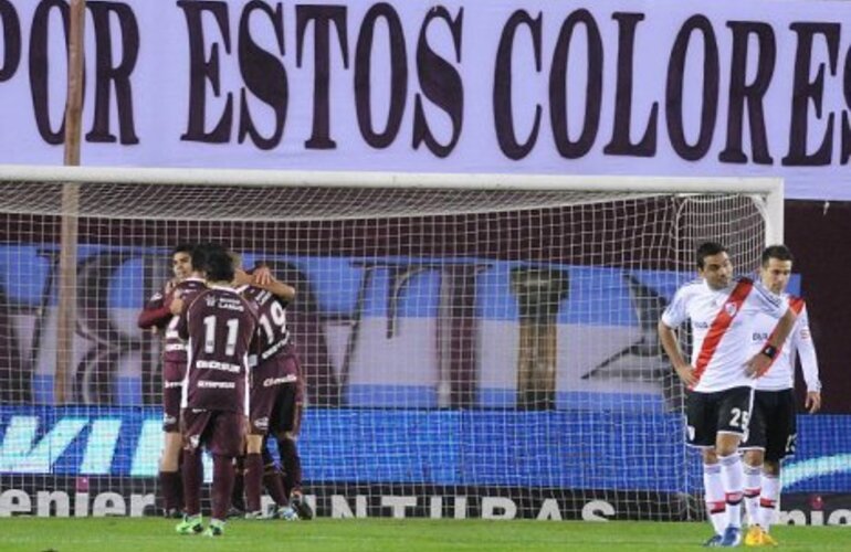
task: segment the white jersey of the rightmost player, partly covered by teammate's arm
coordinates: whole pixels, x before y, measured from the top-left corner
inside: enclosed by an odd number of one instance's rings
[[[798,315],[791,333],[786,339],[768,370],[756,381],[759,391],[782,391],[795,386],[795,359],[800,357],[803,369],[803,381],[807,391],[821,391],[819,382],[819,363],[816,358],[816,346],[810,335],[810,320],[807,304],[800,297],[784,295],[789,301],[789,308]],[[750,339],[750,353],[756,354],[766,341],[777,331],[777,320],[759,314]]]

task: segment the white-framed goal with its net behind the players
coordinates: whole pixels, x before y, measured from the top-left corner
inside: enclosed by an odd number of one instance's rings
[[[782,235],[769,180],[0,180],[0,516],[156,513],[162,343],[136,320],[171,247],[219,242],[297,289],[298,447],[319,516],[697,517],[655,325],[698,243],[749,273]]]

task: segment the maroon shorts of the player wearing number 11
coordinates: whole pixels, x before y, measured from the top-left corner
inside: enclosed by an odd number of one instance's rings
[[[245,416],[238,412],[183,408],[183,448],[201,446],[211,454],[240,456],[245,448]]]

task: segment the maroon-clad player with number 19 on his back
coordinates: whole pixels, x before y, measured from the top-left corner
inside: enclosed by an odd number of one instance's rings
[[[277,505],[276,517],[287,521],[298,519],[290,505],[274,461],[266,448],[266,436],[273,435],[279,444],[279,452],[285,466],[292,464],[297,452],[290,450],[294,445],[294,433],[301,421],[301,370],[290,342],[286,326],[286,307],[295,297],[295,289],[277,282],[266,267],[259,267],[253,275],[237,272],[240,293],[256,305],[258,332],[255,336],[258,354],[249,359],[252,365],[251,414],[249,416],[249,436],[244,463],[245,498],[248,518],[261,518],[260,495],[262,484]],[[297,466],[301,485],[301,465]],[[301,498],[301,495],[298,496]],[[300,506],[306,506],[300,501]],[[313,513],[307,508],[308,513]]]

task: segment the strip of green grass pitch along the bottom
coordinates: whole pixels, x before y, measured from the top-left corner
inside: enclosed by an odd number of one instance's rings
[[[183,537],[157,518],[4,518],[2,552],[650,551],[698,550],[708,523],[427,519],[230,521],[224,537]],[[849,551],[851,528],[777,527],[780,551]]]

